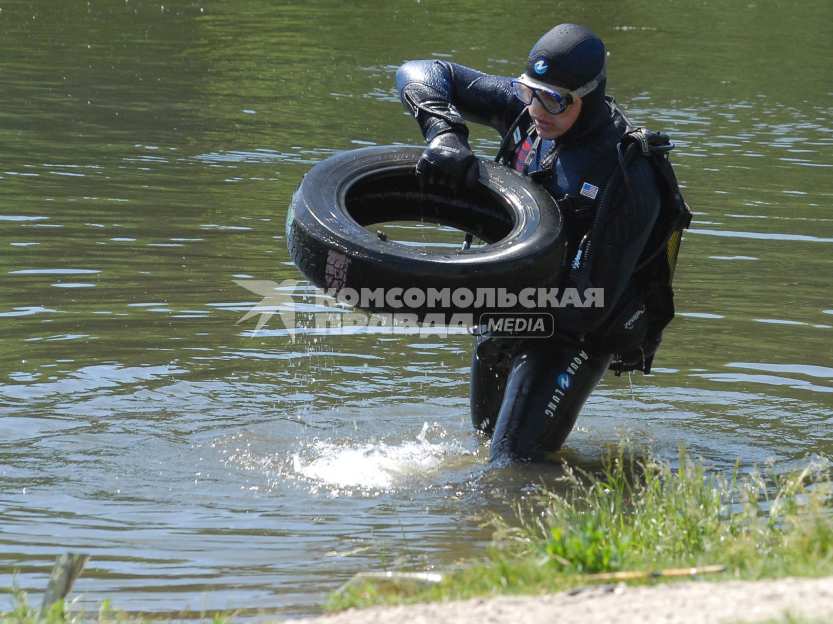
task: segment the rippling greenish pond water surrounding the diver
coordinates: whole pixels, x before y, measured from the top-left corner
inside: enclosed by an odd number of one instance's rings
[[[0,585],[37,594],[74,549],[90,605],[299,617],[355,572],[483,552],[471,516],[558,469],[486,470],[471,339],[255,333],[236,281],[301,278],[314,163],[421,144],[398,65],[517,74],[557,22],[605,39],[695,211],[655,374],[606,377],[563,456],[833,453],[829,0],[0,8]]]

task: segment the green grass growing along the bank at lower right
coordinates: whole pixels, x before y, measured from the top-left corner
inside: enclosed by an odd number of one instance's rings
[[[833,574],[831,468],[713,473],[680,451],[679,468],[626,442],[601,470],[567,467],[554,488],[491,514],[493,546],[431,587],[368,583],[333,594],[332,610],[381,603],[559,592],[589,574],[724,565],[726,578]],[[642,581],[642,582],[658,582]]]

